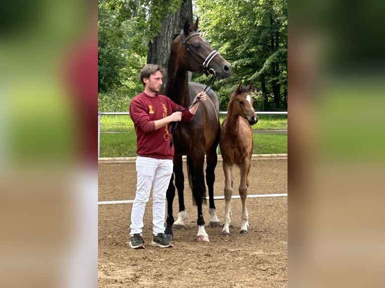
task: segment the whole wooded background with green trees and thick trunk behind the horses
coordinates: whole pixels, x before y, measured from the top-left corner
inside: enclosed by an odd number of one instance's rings
[[[128,111],[143,90],[140,69],[166,68],[173,35],[197,17],[201,35],[233,66],[213,85],[220,110],[243,81],[253,83],[256,111],[286,111],[286,0],[99,0],[99,111]],[[194,73],[192,81],[209,77]]]

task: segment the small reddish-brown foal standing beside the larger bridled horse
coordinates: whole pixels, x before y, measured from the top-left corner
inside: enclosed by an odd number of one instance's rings
[[[246,208],[247,188],[249,186],[248,175],[251,166],[251,155],[253,153],[253,132],[251,125],[258,121],[253,108],[253,100],[250,97],[252,84],[243,87],[242,83],[231,95],[227,108],[227,116],[222,122],[219,147],[221,148],[222,165],[225,173],[225,224],[222,229],[223,235],[230,235],[229,225],[231,216],[231,194],[233,193],[234,164],[240,170],[239,195],[242,201],[242,225],[240,233],[247,233],[248,212]]]

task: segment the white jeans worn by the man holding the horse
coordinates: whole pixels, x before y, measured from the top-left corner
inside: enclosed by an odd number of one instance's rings
[[[150,197],[152,185],[153,234],[164,233],[166,191],[170,183],[172,168],[172,160],[140,156],[136,159],[137,184],[131,212],[131,236],[142,235],[144,209]]]

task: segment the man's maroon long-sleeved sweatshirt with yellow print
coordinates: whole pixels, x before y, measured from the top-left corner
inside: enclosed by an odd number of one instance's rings
[[[175,104],[170,98],[156,94],[150,97],[146,93],[135,96],[130,104],[130,116],[134,122],[137,135],[138,156],[156,159],[173,159],[174,146],[170,148],[171,133],[168,124],[155,130],[155,120],[171,115],[184,107]],[[194,117],[190,111],[182,112],[182,121],[190,121]]]

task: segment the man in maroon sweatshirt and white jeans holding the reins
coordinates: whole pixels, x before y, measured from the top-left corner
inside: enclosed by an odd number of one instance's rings
[[[152,191],[153,239],[151,244],[162,248],[172,247],[164,238],[166,191],[172,175],[174,147],[170,147],[172,135],[168,124],[174,121],[190,121],[200,101],[206,100],[206,92],[199,93],[198,103],[188,110],[175,104],[170,98],[158,94],[162,86],[163,69],[147,64],[140,73],[144,92],[134,97],[130,104],[130,116],[137,135],[137,186],[131,212],[130,247],[144,249],[142,238],[143,216]]]

